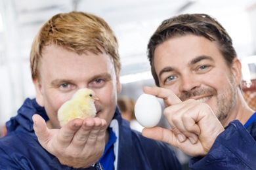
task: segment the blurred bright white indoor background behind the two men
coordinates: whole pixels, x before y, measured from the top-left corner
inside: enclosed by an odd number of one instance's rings
[[[217,18],[232,37],[242,61],[244,88],[255,87],[255,0],[0,0],[1,134],[24,99],[35,97],[29,61],[35,34],[54,14],[72,10],[104,18],[116,33],[123,85],[119,97],[136,100],[143,86],[154,86],[146,58],[148,40],[163,20],[183,13],[206,13]],[[245,97],[250,98],[251,93]],[[168,126],[164,118],[160,124]]]

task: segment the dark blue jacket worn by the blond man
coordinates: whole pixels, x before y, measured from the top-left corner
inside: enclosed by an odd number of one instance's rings
[[[0,169],[74,169],[61,165],[38,142],[33,131],[33,114],[48,120],[43,107],[35,99],[26,99],[18,114],[7,122],[7,135],[0,139]],[[117,169],[182,169],[169,145],[142,137],[133,131],[116,109],[119,127]],[[101,169],[100,165],[87,169]]]

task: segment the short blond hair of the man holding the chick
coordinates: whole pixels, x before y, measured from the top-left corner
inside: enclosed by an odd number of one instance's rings
[[[32,79],[39,79],[40,58],[43,48],[56,44],[66,50],[83,54],[87,51],[102,53],[102,46],[112,57],[117,72],[121,67],[118,43],[110,26],[98,16],[85,12],[56,14],[37,33],[30,52]]]

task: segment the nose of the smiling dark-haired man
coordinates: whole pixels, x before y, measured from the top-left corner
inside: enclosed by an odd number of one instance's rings
[[[181,81],[181,92],[192,92],[201,86],[201,82],[194,74],[182,75]]]

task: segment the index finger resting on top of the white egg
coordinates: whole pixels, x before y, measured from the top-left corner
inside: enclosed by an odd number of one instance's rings
[[[162,98],[165,105],[175,105],[177,103],[181,103],[181,99],[173,93],[172,90],[167,88],[159,88],[159,87],[148,87],[145,86],[143,88],[144,93],[148,93],[151,95],[155,95],[156,97]]]

